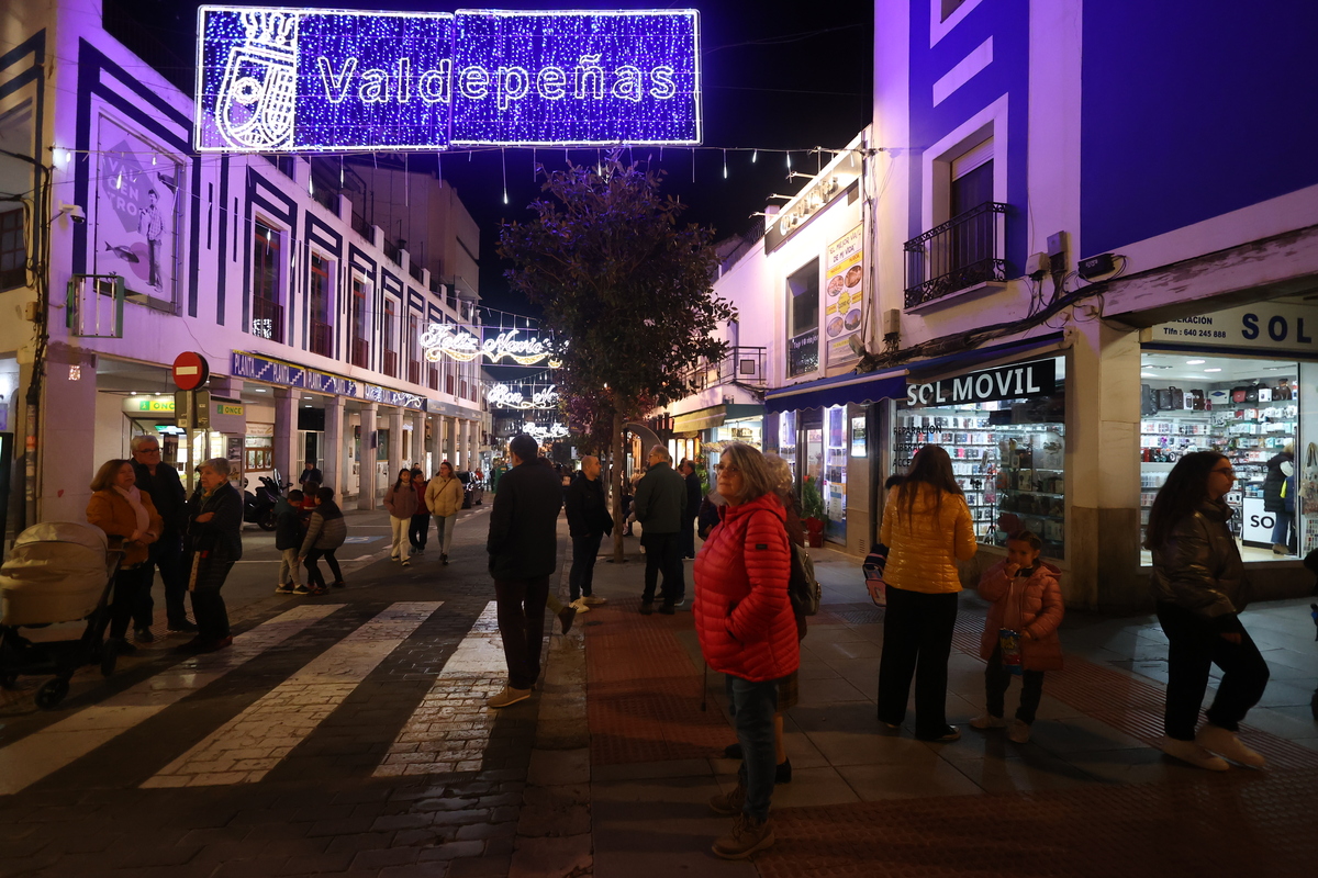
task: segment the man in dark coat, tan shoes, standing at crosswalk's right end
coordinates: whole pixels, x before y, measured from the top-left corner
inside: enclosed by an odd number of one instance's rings
[[[509,442],[513,469],[500,479],[485,549],[494,577],[498,631],[507,662],[507,686],[489,707],[507,707],[531,696],[540,677],[544,602],[558,567],[558,519],[563,483],[526,433]]]

